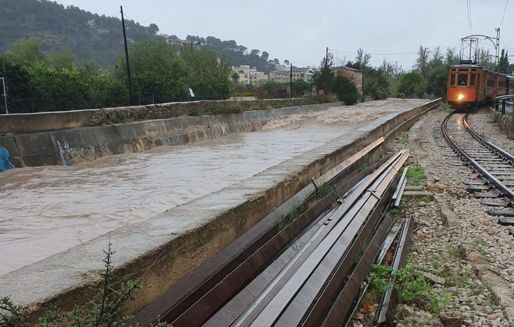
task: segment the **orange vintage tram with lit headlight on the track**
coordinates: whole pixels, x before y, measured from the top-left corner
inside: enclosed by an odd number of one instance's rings
[[[454,108],[471,108],[494,97],[514,94],[514,77],[475,64],[448,67],[447,101]]]

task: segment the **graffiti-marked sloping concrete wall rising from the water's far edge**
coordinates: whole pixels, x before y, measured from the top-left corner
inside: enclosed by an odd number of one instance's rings
[[[284,104],[286,103],[284,102]],[[231,133],[258,131],[271,119],[325,110],[340,105],[341,102],[335,102],[273,110],[245,111],[237,114],[182,116],[128,124],[6,135],[0,136],[0,146],[9,151],[11,162],[16,167],[69,166],[93,161],[111,154],[141,152],[162,145],[183,145],[216,139]],[[130,107],[127,110],[136,110],[133,108]],[[102,112],[104,115],[109,111],[105,110]],[[77,112],[75,116],[68,115],[68,112],[58,113],[62,119],[60,122],[57,122],[57,113],[52,113],[49,115],[49,121],[45,124],[55,123],[56,127],[59,124],[81,126],[87,119],[90,119],[91,112],[94,111]],[[6,117],[9,118],[9,116]],[[104,121],[109,122],[109,119],[105,118]]]

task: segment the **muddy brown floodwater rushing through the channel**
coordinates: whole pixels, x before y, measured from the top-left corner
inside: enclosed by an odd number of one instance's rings
[[[263,130],[0,174],[0,275],[251,177],[427,100],[388,99],[291,115]]]

